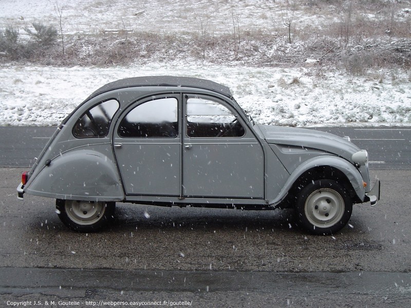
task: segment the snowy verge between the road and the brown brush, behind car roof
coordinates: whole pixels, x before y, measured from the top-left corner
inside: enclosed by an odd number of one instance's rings
[[[227,85],[260,124],[411,125],[408,74],[356,78],[307,68],[249,68],[154,63],[130,67],[0,68],[0,125],[58,125],[100,86],[144,75],[184,75]]]

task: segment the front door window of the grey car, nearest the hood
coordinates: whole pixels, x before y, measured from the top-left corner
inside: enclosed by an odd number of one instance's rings
[[[245,129],[224,105],[201,98],[189,98],[186,105],[188,137],[242,137]]]

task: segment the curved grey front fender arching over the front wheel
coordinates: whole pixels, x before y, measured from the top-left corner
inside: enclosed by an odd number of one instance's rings
[[[304,172],[309,169],[321,166],[333,167],[343,172],[343,174],[350,182],[353,190],[356,192],[357,197],[360,200],[364,201],[365,188],[360,171],[354,165],[343,158],[332,155],[321,155],[306,160],[297,168],[295,168],[295,170],[286,181],[283,189],[279,192],[278,196],[273,200],[269,200],[269,204],[275,206],[280,203],[287,196],[288,191],[291,189],[293,184],[304,174]]]

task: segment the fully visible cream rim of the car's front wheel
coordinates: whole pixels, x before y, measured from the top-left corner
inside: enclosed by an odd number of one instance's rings
[[[338,223],[344,215],[344,199],[335,190],[320,188],[308,196],[304,210],[315,227],[326,228]]]

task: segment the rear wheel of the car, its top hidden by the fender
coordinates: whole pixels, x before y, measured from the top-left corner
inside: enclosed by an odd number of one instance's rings
[[[97,232],[114,218],[115,202],[55,201],[60,220],[76,232]]]

